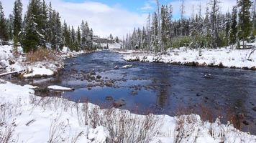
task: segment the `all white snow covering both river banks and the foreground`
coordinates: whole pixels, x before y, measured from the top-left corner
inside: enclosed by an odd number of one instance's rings
[[[3,47],[3,48],[2,48]],[[19,48],[20,49],[20,48]],[[21,52],[21,51],[19,51]],[[83,54],[63,49],[62,58]],[[165,55],[129,51],[124,59],[140,61],[161,61],[182,63],[219,64],[224,66],[252,67],[247,54],[250,50],[175,49]],[[199,56],[199,53],[201,56]],[[62,61],[39,61],[23,63],[23,56],[15,57],[12,46],[0,47],[0,64],[7,66],[6,71],[25,69],[24,77],[52,76]],[[10,64],[9,60],[14,60]],[[123,66],[123,68],[132,65]],[[234,129],[232,124],[204,122],[196,114],[170,117],[168,115],[132,114],[122,109],[100,109],[91,103],[75,103],[59,97],[37,97],[32,85],[20,86],[0,79],[0,139],[11,133],[13,142],[256,142],[256,137]],[[48,87],[49,88],[49,87]],[[50,86],[52,89],[70,89]],[[114,140],[113,140],[114,139]],[[136,140],[139,139],[139,140]],[[141,140],[140,140],[141,139]],[[10,141],[9,141],[10,142]]]

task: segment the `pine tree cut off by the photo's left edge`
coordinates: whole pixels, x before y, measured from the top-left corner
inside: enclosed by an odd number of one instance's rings
[[[3,6],[1,5],[0,1],[0,39],[4,41],[8,41],[8,31],[7,31],[7,26],[6,26],[6,19],[4,17],[4,9]]]

